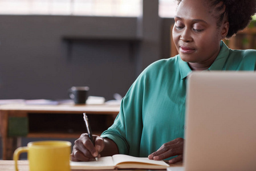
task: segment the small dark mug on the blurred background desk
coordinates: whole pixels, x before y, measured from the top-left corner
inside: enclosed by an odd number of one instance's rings
[[[70,98],[75,104],[86,104],[89,87],[71,87],[69,90]]]

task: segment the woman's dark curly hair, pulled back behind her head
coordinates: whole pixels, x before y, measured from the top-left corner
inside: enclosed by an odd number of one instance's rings
[[[182,0],[176,0],[178,5]],[[210,14],[217,18],[217,26],[227,15],[229,32],[226,38],[230,38],[239,30],[243,30],[251,22],[251,16],[256,13],[256,0],[205,0],[210,8]]]

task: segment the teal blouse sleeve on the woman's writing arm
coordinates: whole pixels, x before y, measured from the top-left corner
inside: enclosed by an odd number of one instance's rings
[[[113,125],[101,137],[113,140],[120,154],[139,156],[143,130],[142,109],[146,76],[142,73],[121,101],[120,112]],[[132,148],[130,148],[132,146]]]

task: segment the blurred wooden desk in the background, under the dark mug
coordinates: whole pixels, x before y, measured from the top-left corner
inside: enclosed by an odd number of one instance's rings
[[[3,160],[12,160],[14,150],[21,146],[17,137],[78,138],[86,132],[83,112],[88,114],[92,132],[100,135],[112,125],[119,105],[0,105]]]

